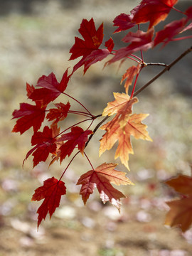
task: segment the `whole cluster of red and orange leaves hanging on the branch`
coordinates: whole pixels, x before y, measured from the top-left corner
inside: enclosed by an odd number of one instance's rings
[[[114,26],[118,27],[114,33],[127,31],[134,26],[139,28],[136,32],[128,32],[122,38],[122,41],[126,44],[128,43],[128,45],[118,50],[114,50],[114,41],[112,38],[103,41],[103,23],[96,29],[93,18],[90,21],[87,21],[87,19],[82,20],[79,29],[82,38],[75,37],[75,43],[70,48],[70,60],[81,57],[78,63],[74,65],[72,73],[68,75],[68,69],[65,70],[60,82],[58,82],[53,73],[50,73],[48,76],[43,75],[39,78],[36,87],[27,84],[27,96],[28,99],[34,102],[34,105],[24,102],[20,104],[19,110],[13,112],[13,118],[17,118],[17,121],[12,132],[23,134],[23,132],[33,127],[33,136],[31,137],[33,148],[28,151],[24,161],[32,154],[34,167],[41,161],[46,161],[49,155],[52,156],[50,164],[53,164],[54,161],[58,160],[61,163],[75,149],[78,149],[78,152],[82,155],[85,153],[85,147],[90,141],[89,136],[93,134],[89,129],[90,126],[86,130],[83,130],[77,124],[74,124],[72,127],[68,127],[70,132],[67,132],[68,129],[60,132],[58,122],[66,119],[70,113],[88,117],[88,119],[84,119],[82,122],[90,120],[91,124],[97,117],[92,115],[78,100],[76,102],[84,107],[85,112],[71,110],[70,102],[66,102],[65,104],[62,102],[54,103],[55,107],[53,108],[48,108],[48,105],[53,103],[60,95],[73,98],[67,95],[65,90],[73,73],[82,66],[84,67],[85,74],[92,64],[104,60],[110,55],[112,55],[112,58],[107,60],[105,65],[110,65],[117,60],[124,61],[132,53],[149,50],[149,48],[154,48],[159,43],[163,43],[163,46],[165,46],[170,41],[191,37],[175,38],[178,34],[192,27],[192,23],[190,23],[192,8],[183,12],[185,17],[181,18],[181,20],[166,24],[161,31],[156,32],[154,29],[154,26],[160,21],[164,21],[171,9],[174,9],[176,2],[177,0],[142,0],[130,14],[120,14],[114,18]],[[146,22],[149,22],[148,30],[140,30],[139,24]],[[102,48],[100,48],[101,46]],[[136,139],[151,141],[146,131],[146,125],[142,124],[142,120],[147,114],[132,114],[132,106],[138,102],[137,97],[133,97],[136,82],[132,90],[132,95],[128,95],[129,86],[132,85],[134,76],[136,75],[138,77],[140,71],[144,68],[144,60],[135,55],[134,58],[137,58],[138,65],[128,68],[124,75],[122,75],[121,83],[124,82],[125,93],[114,93],[115,100],[109,102],[102,113],[102,116],[110,117],[114,115],[114,117],[110,122],[107,122],[107,124],[101,127],[101,129],[105,130],[105,134],[100,139],[100,154],[111,149],[118,140],[114,158],[117,159],[119,157],[127,169],[129,169],[129,154],[133,154],[131,135]],[[73,100],[75,99],[73,98]],[[39,129],[45,119],[47,122],[51,122],[51,124],[50,126],[46,125],[43,127],[43,131],[40,132]],[[91,171],[82,174],[77,184],[82,185],[80,195],[82,195],[82,201],[84,203],[87,202],[90,194],[97,187],[103,203],[110,201],[118,209],[120,208],[120,198],[123,198],[124,195],[114,188],[111,183],[115,185],[130,185],[132,182],[129,181],[129,178],[122,171],[115,170],[115,166],[116,164],[105,163],[96,169],[92,167]],[[63,174],[65,174],[65,171]],[[55,208],[60,204],[61,196],[66,193],[65,183],[61,181],[61,178],[63,178],[63,175],[59,180],[54,177],[48,178],[48,180],[44,181],[43,186],[36,189],[33,195],[33,201],[40,201],[44,198],[42,205],[37,211],[38,226],[46,218],[48,213],[50,217],[53,215]]]

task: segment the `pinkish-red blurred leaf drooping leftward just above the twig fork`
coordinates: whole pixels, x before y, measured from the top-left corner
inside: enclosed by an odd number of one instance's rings
[[[124,36],[122,41],[124,41],[124,43],[130,43],[129,46],[117,50],[114,57],[111,60],[108,60],[105,65],[114,63],[122,58],[127,58],[130,54],[137,52],[138,50],[148,50],[154,44],[152,41],[153,35],[154,28],[151,28],[146,32],[138,30],[135,33],[127,33],[127,36]]]

